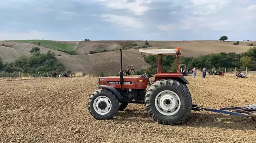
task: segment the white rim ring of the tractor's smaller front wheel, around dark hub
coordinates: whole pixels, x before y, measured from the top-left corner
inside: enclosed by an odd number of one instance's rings
[[[99,108],[99,103],[100,102],[105,102],[106,103],[106,107],[104,109]],[[111,107],[112,107],[111,101],[106,96],[99,96],[93,102],[93,108],[94,108],[95,112],[97,112],[100,115],[108,114],[111,110]]]

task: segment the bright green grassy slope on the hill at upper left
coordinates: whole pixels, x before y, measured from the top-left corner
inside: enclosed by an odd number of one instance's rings
[[[3,41],[2,41],[3,42]],[[73,51],[78,42],[56,42],[52,40],[8,40],[5,42],[22,42],[22,43],[36,43],[41,42],[40,46],[50,49],[60,49],[66,51]]]

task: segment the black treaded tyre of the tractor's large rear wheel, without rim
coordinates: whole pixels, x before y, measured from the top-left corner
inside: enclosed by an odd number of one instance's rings
[[[181,101],[178,112],[171,116],[161,114],[155,106],[155,98],[158,93],[170,90],[175,92]],[[159,124],[178,125],[182,123],[189,115],[192,109],[192,97],[186,86],[179,81],[172,79],[161,79],[150,86],[145,95],[145,106],[150,117]]]

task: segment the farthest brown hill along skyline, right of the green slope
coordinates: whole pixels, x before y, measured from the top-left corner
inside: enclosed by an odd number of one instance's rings
[[[198,57],[199,55],[205,55],[210,53],[220,52],[246,52],[250,46],[248,43],[254,43],[255,41],[240,41],[239,45],[233,45],[233,41],[218,41],[218,40],[196,40],[196,41],[148,41],[151,47],[150,49],[162,48],[170,49],[180,47],[183,56]],[[85,54],[89,51],[97,51],[102,49],[115,49],[122,48],[125,44],[137,44],[143,46],[145,41],[82,41],[75,49],[78,53]],[[138,49],[134,49],[138,51]]]

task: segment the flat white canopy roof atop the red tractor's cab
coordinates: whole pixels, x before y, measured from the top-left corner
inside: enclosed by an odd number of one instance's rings
[[[176,52],[176,49],[139,49],[140,52],[149,53],[150,55],[176,55],[181,54],[181,52]]]

